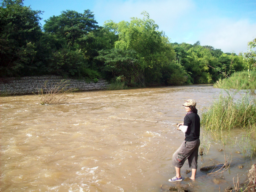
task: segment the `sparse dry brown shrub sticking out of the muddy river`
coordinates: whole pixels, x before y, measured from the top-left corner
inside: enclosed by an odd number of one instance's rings
[[[68,81],[62,80],[59,83],[47,88],[47,81],[44,88],[38,90],[41,105],[64,104],[68,100],[68,93],[74,92],[74,89],[68,89]]]

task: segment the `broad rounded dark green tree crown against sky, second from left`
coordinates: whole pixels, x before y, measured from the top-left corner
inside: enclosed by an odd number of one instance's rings
[[[97,29],[99,26],[96,24],[94,14],[89,9],[84,13],[67,10],[45,20],[44,31],[65,38],[68,47],[73,47],[75,43],[80,43],[82,37]]]

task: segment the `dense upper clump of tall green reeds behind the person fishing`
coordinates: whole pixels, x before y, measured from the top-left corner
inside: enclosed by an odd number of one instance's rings
[[[243,94],[236,100],[230,93],[220,93],[219,99],[203,110],[202,124],[206,130],[230,130],[234,127],[254,127],[256,123],[256,99],[250,94]]]

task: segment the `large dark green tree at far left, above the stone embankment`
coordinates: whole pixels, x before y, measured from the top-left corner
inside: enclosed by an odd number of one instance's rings
[[[0,6],[0,74],[29,75],[35,69],[36,42],[42,31],[41,11],[23,6],[22,0],[3,0]]]

